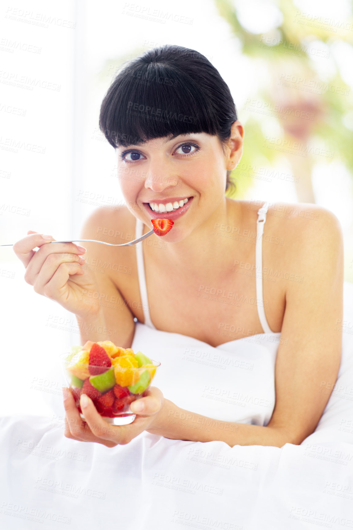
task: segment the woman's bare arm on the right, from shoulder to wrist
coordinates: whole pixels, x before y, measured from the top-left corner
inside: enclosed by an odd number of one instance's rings
[[[309,205],[305,205],[306,210]],[[299,217],[285,267],[303,276],[287,280],[286,309],[275,366],[276,404],[266,427],[224,422],[164,400],[149,432],[166,438],[225,441],[228,445],[301,444],[319,422],[341,359],[343,243],[336,216],[312,207],[317,219]],[[315,210],[314,210],[315,209]],[[285,272],[285,271],[284,271]]]

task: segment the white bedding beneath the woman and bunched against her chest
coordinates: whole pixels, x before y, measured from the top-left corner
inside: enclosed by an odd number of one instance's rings
[[[337,383],[300,446],[231,448],[144,432],[108,448],[65,438],[62,400],[48,395],[51,418],[0,419],[0,528],[353,528],[353,285],[344,295]],[[212,348],[137,324],[132,347],[161,361],[154,385],[180,407],[267,425],[278,339]]]

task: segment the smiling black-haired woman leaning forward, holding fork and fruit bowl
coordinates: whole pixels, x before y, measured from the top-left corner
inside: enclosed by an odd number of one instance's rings
[[[181,408],[172,399],[177,395],[172,374],[163,393],[151,387],[131,404],[137,414],[133,423],[107,430],[89,398],[81,398],[82,421],[67,390],[65,436],[108,447],[128,444],[143,431],[221,440],[231,447],[301,444],[330,397],[322,382],[332,388],[340,366],[338,219],[313,204],[269,205],[225,196],[242,155],[244,129],[226,83],[195,50],[164,46],[127,63],[105,95],[100,128],[116,149],[127,206],[95,210],[81,237],[121,243],[149,231],[153,218],[171,218],[174,225],[138,248],[51,245],[51,236],[29,231],[14,245],[25,280],[76,315],[82,343],[113,340],[128,348],[142,324],[205,348],[249,346],[251,340],[255,347],[252,337],[273,334],[276,402],[258,425],[228,421],[225,427],[227,405],[219,401],[209,416],[199,414],[187,384],[183,394],[190,399],[183,403],[189,407]],[[84,330],[90,330],[88,336]],[[163,378],[163,364],[160,370]],[[209,374],[212,385],[212,370]],[[174,377],[183,381],[178,369]],[[215,420],[210,428],[196,428],[208,419]]]

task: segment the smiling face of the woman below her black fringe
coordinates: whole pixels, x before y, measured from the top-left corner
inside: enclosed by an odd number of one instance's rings
[[[234,130],[241,140],[242,133]],[[190,133],[118,147],[118,177],[127,207],[148,227],[151,219],[172,219],[173,228],[163,237],[171,243],[182,241],[218,216],[226,171],[239,162],[240,144],[237,138],[235,147],[231,143],[223,152],[217,136]]]

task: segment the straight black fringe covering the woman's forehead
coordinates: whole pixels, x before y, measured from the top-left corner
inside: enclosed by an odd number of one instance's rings
[[[161,63],[140,64],[127,76],[118,76],[102,110],[100,128],[113,147],[190,133],[217,134],[200,87]]]

